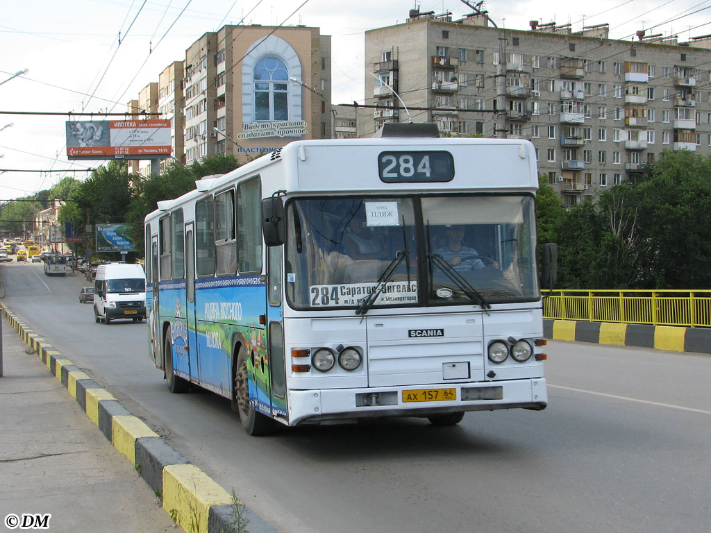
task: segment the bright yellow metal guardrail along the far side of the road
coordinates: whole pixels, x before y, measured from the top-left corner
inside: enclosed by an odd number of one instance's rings
[[[710,291],[542,291],[543,318],[711,327]]]

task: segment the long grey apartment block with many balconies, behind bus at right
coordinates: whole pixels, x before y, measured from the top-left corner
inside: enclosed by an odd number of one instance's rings
[[[663,150],[711,153],[710,36],[618,41],[607,24],[530,26],[414,9],[366,31],[375,107],[359,109],[358,136],[412,119],[454,136],[530,139],[566,205],[634,178]]]

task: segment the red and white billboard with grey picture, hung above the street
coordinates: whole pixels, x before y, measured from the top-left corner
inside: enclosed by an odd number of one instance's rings
[[[65,130],[70,161],[171,155],[170,120],[70,120],[65,123]]]

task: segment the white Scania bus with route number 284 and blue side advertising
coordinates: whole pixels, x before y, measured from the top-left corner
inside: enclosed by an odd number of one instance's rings
[[[172,392],[227,397],[253,435],[546,407],[533,145],[427,126],[295,141],[159,203],[146,306]]]

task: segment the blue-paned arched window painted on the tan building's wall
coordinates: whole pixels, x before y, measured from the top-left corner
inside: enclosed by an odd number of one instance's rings
[[[287,65],[277,58],[264,58],[255,66],[255,119],[289,120]]]

